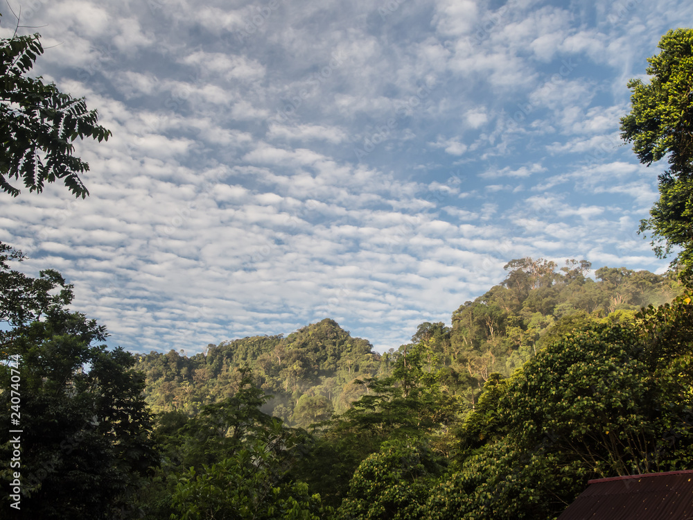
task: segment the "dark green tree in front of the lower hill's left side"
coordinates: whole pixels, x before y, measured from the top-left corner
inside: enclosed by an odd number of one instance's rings
[[[247,368],[238,375],[234,395],[195,417],[157,417],[162,462],[138,496],[144,518],[305,520],[328,512],[294,478],[312,437],[263,413],[271,396]]]

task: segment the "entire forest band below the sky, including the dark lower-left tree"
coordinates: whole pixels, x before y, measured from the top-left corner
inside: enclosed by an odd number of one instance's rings
[[[588,478],[693,466],[690,296],[635,310],[680,292],[669,277],[517,259],[452,327],[385,354],[326,319],[135,361],[92,345],[105,329],[66,309],[58,272],[2,252],[22,505],[42,518],[547,519]]]

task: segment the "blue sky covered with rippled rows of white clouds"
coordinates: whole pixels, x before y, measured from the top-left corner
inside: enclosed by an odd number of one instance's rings
[[[86,200],[0,193],[0,241],[62,272],[109,345],[332,318],[383,351],[511,259],[667,268],[637,233],[665,165],[619,124],[688,0],[9,4],[42,35],[33,73],[113,135],[76,143]]]

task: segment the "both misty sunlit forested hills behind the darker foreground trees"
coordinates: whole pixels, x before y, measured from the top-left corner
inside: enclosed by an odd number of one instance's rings
[[[443,367],[441,383],[472,406],[489,374],[509,376],[538,350],[588,322],[629,320],[642,306],[671,301],[680,287],[671,277],[603,267],[587,275],[587,261],[523,258],[505,266],[507,277],[453,312],[452,327],[423,322],[412,343],[424,344],[429,367]],[[194,345],[191,345],[194,347]],[[240,367],[274,395],[263,411],[308,426],[341,413],[368,392],[367,379],[388,375],[410,345],[378,354],[365,339],[330,319],[279,336],[253,336],[209,345],[187,357],[170,351],[138,356],[146,400],[155,411],[197,413],[234,395]]]

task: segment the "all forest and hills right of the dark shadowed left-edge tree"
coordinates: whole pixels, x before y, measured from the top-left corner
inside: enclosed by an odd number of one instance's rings
[[[590,478],[690,467],[693,305],[676,277],[505,267],[451,327],[382,354],[327,318],[138,356],[164,454],[144,517],[547,519]]]

